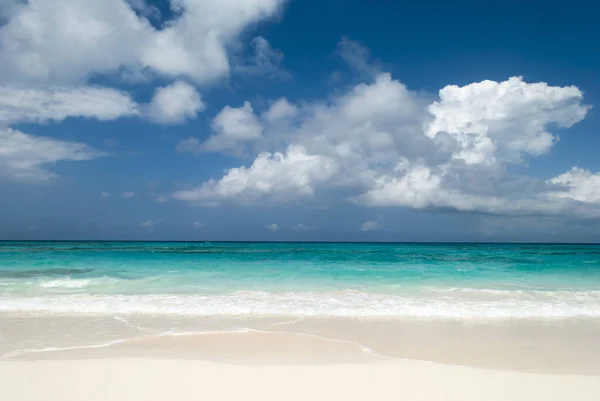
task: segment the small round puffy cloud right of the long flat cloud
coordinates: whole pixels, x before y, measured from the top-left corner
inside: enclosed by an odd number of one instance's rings
[[[179,124],[196,118],[196,114],[204,108],[204,102],[196,88],[186,82],[176,81],[156,90],[148,113],[152,121]]]

